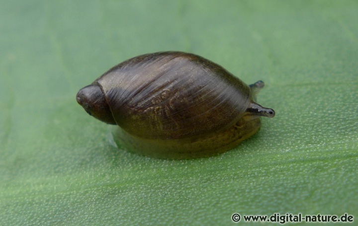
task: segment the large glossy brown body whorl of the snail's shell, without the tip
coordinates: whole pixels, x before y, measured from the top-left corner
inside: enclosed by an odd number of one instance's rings
[[[148,139],[225,130],[251,101],[250,87],[240,79],[211,61],[181,52],[129,59],[93,83],[104,92],[117,124]]]

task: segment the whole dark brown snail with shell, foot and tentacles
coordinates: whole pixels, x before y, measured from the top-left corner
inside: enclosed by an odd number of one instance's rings
[[[77,93],[100,121],[118,125],[114,139],[129,151],[158,158],[195,158],[228,151],[254,135],[255,102],[263,81],[247,85],[200,56],[159,52],[114,66]]]

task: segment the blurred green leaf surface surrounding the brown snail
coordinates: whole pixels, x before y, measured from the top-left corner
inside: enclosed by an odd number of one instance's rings
[[[233,213],[358,221],[357,1],[0,5],[0,225],[234,225]],[[118,150],[76,93],[128,58],[167,50],[264,80],[258,102],[276,116],[210,158]]]

